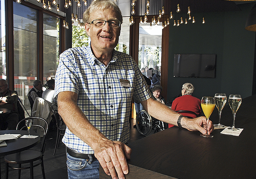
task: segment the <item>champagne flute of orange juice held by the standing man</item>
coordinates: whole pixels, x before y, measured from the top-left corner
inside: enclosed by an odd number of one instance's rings
[[[201,100],[201,106],[202,106],[202,109],[204,111],[204,115],[206,117],[206,130],[207,130],[209,117],[212,114],[212,111],[215,107],[215,98],[211,97],[211,96],[203,96],[202,100]],[[201,133],[200,136],[202,136],[202,137],[213,137],[212,134],[208,135],[207,132],[206,132],[206,134]]]

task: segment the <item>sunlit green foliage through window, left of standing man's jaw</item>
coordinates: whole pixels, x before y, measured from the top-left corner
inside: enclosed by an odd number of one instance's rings
[[[72,26],[72,47],[88,46],[88,39],[84,28]]]

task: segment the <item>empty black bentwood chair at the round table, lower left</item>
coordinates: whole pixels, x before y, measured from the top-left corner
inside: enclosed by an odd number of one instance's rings
[[[30,129],[35,129],[36,127],[40,127],[43,129],[44,136],[42,137],[41,149],[40,151],[29,149],[29,150],[21,151],[18,153],[6,155],[4,157],[4,161],[6,162],[6,179],[8,179],[9,168],[18,169],[18,179],[20,179],[20,173],[22,169],[30,169],[30,179],[34,179],[33,168],[40,164],[41,164],[43,178],[45,179],[43,156],[44,156],[44,150],[45,150],[45,140],[48,133],[48,122],[41,117],[27,117],[25,119],[22,119],[18,123],[16,130],[24,129],[26,125],[22,127],[21,126],[22,121],[25,121],[27,119],[32,119],[32,122],[34,122],[34,120],[39,120],[40,123],[44,123],[44,125],[37,125],[32,123],[32,126],[30,128]],[[18,164],[18,167],[16,164]],[[25,165],[22,167],[21,165],[23,164],[29,164],[29,166]]]

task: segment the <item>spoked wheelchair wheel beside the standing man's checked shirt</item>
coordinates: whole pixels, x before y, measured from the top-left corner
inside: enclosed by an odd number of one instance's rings
[[[151,116],[145,110],[142,110],[137,114],[136,126],[138,131],[142,135],[148,135],[151,132],[152,119]]]

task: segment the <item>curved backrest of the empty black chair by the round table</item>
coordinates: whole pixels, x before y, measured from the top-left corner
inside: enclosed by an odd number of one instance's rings
[[[43,129],[44,131],[44,136],[42,137],[42,142],[41,142],[41,152],[44,153],[45,150],[45,140],[46,140],[46,136],[48,134],[48,128],[49,128],[49,124],[48,122],[43,119],[42,117],[27,117],[25,119],[22,119],[21,121],[18,122],[16,130],[22,130],[25,127],[27,128],[26,125],[24,125],[24,121],[26,121],[27,119],[31,119],[32,120],[32,125],[30,129],[34,129],[34,127],[40,127]],[[35,124],[35,123],[36,124]]]

